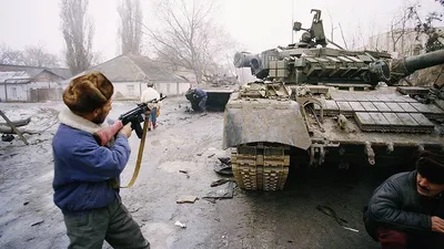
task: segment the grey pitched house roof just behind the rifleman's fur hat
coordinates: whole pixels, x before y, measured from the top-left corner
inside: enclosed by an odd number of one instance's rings
[[[99,71],[103,73],[112,82],[145,82],[152,81],[153,83],[184,83],[184,79],[175,75],[167,69],[163,69],[153,60],[133,54],[123,54],[103,62],[89,69],[85,72]],[[68,81],[85,73],[82,72]]]

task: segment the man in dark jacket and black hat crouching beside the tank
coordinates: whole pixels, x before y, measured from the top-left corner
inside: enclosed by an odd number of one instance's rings
[[[416,168],[385,180],[365,208],[365,228],[383,249],[444,248],[444,155],[423,152]]]

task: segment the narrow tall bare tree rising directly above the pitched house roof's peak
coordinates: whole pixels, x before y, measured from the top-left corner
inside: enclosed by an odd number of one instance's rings
[[[121,24],[119,34],[122,42],[122,53],[140,54],[142,10],[140,0],[122,0],[118,7]]]

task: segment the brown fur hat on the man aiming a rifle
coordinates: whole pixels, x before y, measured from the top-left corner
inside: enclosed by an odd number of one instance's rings
[[[112,83],[100,72],[75,77],[63,91],[63,102],[72,111],[90,113],[107,104],[114,92]]]

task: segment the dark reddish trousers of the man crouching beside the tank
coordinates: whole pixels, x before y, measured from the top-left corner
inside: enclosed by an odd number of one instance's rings
[[[432,231],[428,235],[415,236],[390,228],[379,228],[376,229],[376,238],[381,243],[381,249],[444,248],[444,235]]]

